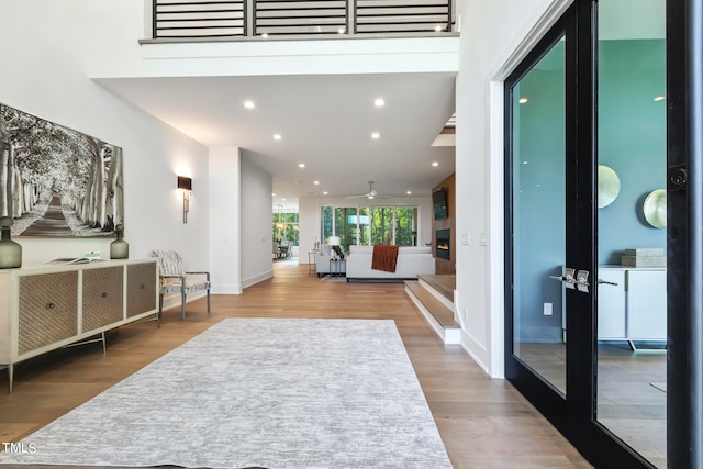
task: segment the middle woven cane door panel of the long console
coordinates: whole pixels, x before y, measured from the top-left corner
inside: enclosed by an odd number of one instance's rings
[[[82,331],[122,321],[124,316],[122,266],[83,270]]]

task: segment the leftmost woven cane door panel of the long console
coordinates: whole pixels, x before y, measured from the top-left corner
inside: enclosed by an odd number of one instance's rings
[[[75,336],[77,299],[77,271],[21,277],[18,354]]]

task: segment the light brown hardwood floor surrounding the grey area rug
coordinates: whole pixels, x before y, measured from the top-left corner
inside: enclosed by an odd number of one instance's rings
[[[442,344],[403,283],[325,282],[290,261],[275,263],[274,279],[241,295],[213,295],[210,315],[198,300],[186,321],[170,310],[160,328],[144,322],[111,332],[107,355],[93,344],[18,366],[14,392],[0,392],[0,442],[30,435],[224,317],[394,320],[456,468],[591,467],[507,381]],[[4,371],[0,383],[7,386]]]

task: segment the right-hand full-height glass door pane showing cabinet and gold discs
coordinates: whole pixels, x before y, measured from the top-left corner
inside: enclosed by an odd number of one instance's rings
[[[636,14],[632,14],[636,12]],[[666,1],[599,1],[598,421],[667,455]],[[631,250],[627,250],[631,249]],[[635,250],[636,249],[636,250]]]

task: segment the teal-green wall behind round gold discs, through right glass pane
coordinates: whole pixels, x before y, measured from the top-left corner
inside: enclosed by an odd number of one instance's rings
[[[665,41],[601,41],[599,164],[621,180],[615,201],[599,210],[599,263],[621,263],[628,247],[666,248],[667,231],[651,227],[645,197],[667,187]]]

